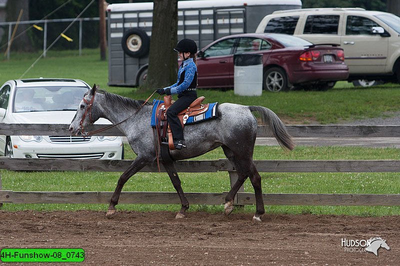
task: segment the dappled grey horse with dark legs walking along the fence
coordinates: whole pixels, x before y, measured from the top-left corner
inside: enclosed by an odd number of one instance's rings
[[[143,100],[133,100],[96,88],[94,85],[83,95],[71,121],[71,135],[85,134],[84,128],[99,118],[106,118],[126,136],[133,152],[137,155],[132,164],[119,177],[116,188],[110,199],[106,213],[111,217],[116,213],[119,195],[123,185],[144,166],[157,159],[159,148],[156,130],[150,126],[152,103]],[[262,106],[244,106],[232,103],[219,104],[217,117],[206,122],[184,127],[183,134],[186,148],[170,151],[171,157],[184,160],[200,156],[217,147],[222,147],[224,155],[234,166],[238,179],[225,197],[224,212],[229,215],[233,211],[233,199],[249,177],[254,188],[256,213],[253,220],[261,222],[265,213],[261,191],[261,176],[258,174],[253,160],[253,150],[257,132],[257,120],[252,112],[258,112],[263,125],[267,125],[280,146],[292,150],[295,146],[284,124],[277,115]],[[126,121],[125,121],[126,120]],[[86,133],[87,134],[87,133]],[[161,160],[171,182],[176,190],[181,208],[175,218],[186,217],[189,208],[174,162]]]

